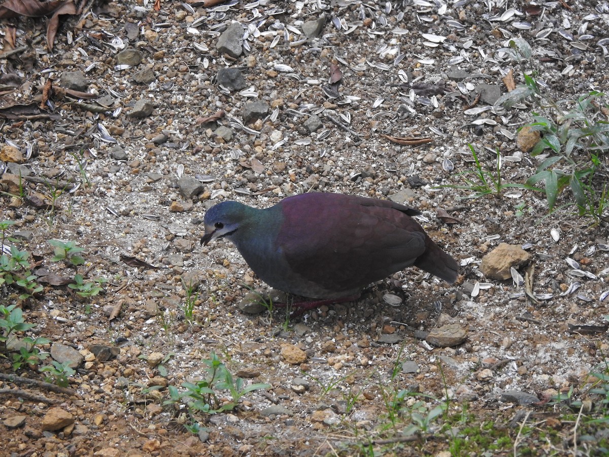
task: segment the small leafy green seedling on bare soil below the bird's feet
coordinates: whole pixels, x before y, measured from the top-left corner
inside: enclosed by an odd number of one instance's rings
[[[169,386],[170,400],[166,404],[178,402],[186,403],[191,416],[191,423],[197,423],[196,414],[216,414],[224,411],[232,411],[239,405],[241,398],[249,392],[258,389],[268,389],[270,384],[256,383],[245,386],[242,378],[233,378],[224,363],[220,362],[215,353],[210,354],[210,358],[203,360],[206,366],[206,378],[204,380],[185,382],[181,386],[186,389],[184,392],[178,391],[175,386]],[[231,401],[223,402],[220,400],[219,391],[228,391]]]

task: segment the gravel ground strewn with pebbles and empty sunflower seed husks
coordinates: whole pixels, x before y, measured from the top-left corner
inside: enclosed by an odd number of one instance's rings
[[[578,395],[609,353],[607,225],[568,207],[544,218],[538,192],[460,199],[469,191],[437,186],[463,185],[468,144],[491,169],[500,151],[504,182],[534,174],[541,160],[516,133],[535,105],[491,109],[504,77],[513,69],[521,84],[532,69],[557,100],[607,88],[607,2],[261,0],[156,11],[127,0],[69,19],[52,53],[43,21],[10,24],[16,46],[35,44],[0,59],[2,219],[16,222],[9,233],[38,277],[73,277],[51,262],[48,240],[75,240],[85,249],[77,272],[107,283],[91,299],[43,283],[22,303],[56,360],[77,358],[70,348],[82,360],[70,379],[76,394],[30,388],[55,405],[3,398],[7,455],[461,455],[451,436],[463,438],[463,424],[438,433],[442,420],[432,421],[408,441],[404,411],[426,416],[446,397],[449,415],[468,405],[475,423],[506,430],[512,441],[496,455],[515,453],[517,437],[533,455],[600,452],[601,431],[576,450],[572,424],[541,403],[570,388]],[[500,51],[510,38],[529,43],[530,61]],[[413,268],[354,303],[297,317],[245,313],[250,290],[268,290],[230,243],[200,246],[203,214],[224,199],[267,207],[307,191],[423,211],[429,235],[460,261],[456,285]],[[557,207],[571,198],[565,191]],[[483,274],[482,258],[500,243],[526,248],[516,257],[534,265],[537,303],[511,278]],[[161,404],[167,384],[205,378],[212,352],[246,383],[272,387],[229,413],[200,414],[205,430],[191,434],[185,410]],[[403,389],[422,403],[407,399],[396,419],[390,400]],[[519,434],[526,417],[554,439]]]

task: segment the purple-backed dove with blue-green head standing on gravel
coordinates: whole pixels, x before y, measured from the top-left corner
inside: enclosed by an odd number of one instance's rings
[[[304,309],[354,301],[362,290],[409,266],[448,283],[457,262],[412,216],[420,211],[390,200],[304,193],[270,208],[226,200],[206,211],[201,244],[226,238],[258,277],[308,302]]]

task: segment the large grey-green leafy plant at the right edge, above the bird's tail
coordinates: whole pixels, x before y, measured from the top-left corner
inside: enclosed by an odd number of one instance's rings
[[[510,47],[500,49],[515,62],[529,63],[534,68],[532,52],[523,38],[510,40]],[[538,111],[532,113],[533,122],[527,126],[540,132],[540,140],[531,155],[535,157],[550,151],[548,157],[537,167],[527,185],[543,183],[550,212],[555,208],[557,197],[565,189],[571,190],[580,216],[588,215],[595,223],[609,221],[604,211],[607,199],[607,166],[604,157],[609,151],[609,122],[602,120],[605,94],[590,91],[576,100],[555,101],[547,86],[535,80],[534,72],[524,74],[524,84],[499,97],[495,108],[511,108],[516,103],[530,99]],[[597,182],[601,183],[599,185]],[[602,183],[605,184],[602,184]]]

